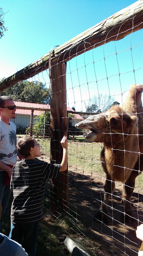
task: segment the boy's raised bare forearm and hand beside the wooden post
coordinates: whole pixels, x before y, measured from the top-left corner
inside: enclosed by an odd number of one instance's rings
[[[68,139],[67,137],[63,137],[61,140],[61,145],[63,147],[63,159],[60,164],[60,172],[66,171],[68,167]]]

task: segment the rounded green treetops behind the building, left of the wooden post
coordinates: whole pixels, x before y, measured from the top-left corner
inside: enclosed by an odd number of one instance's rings
[[[4,79],[2,79],[4,80]],[[0,96],[7,95],[15,101],[49,104],[50,92],[45,84],[35,81],[24,80],[7,88],[0,93]]]

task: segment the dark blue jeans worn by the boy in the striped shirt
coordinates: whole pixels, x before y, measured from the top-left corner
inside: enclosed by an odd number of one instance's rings
[[[28,256],[36,255],[36,246],[39,233],[39,222],[11,223],[9,238],[20,243]]]

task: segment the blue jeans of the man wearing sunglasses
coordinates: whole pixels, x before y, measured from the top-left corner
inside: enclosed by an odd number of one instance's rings
[[[2,205],[0,229],[2,226],[2,222],[3,222],[3,215],[5,213],[6,207],[9,202],[10,193],[11,193],[10,187],[5,185],[5,171],[0,171],[0,201],[1,201],[1,205]]]

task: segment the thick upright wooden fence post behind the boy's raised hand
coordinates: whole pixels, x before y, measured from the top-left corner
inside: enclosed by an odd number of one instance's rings
[[[68,133],[66,105],[66,64],[53,63],[49,58],[50,77],[50,130],[51,130],[51,163],[61,163],[63,147],[60,144]],[[59,173],[58,178],[51,179],[51,211],[68,211],[69,186],[68,170]]]

